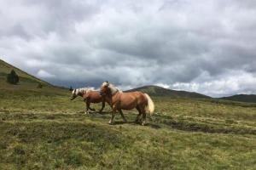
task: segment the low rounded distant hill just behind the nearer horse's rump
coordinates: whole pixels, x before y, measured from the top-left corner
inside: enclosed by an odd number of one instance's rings
[[[152,96],[164,96],[164,97],[172,97],[172,98],[186,98],[186,99],[209,99],[210,98],[209,96],[203,95],[203,94],[171,90],[167,88],[161,88],[158,86],[143,86],[140,88],[133,88],[131,90],[127,90],[127,92],[132,92],[132,91],[141,91],[143,93],[147,93]]]

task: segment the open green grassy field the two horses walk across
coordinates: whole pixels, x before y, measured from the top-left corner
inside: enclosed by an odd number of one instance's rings
[[[0,169],[256,169],[256,105],[154,97],[148,126],[108,125],[109,106],[17,86],[0,88]]]

